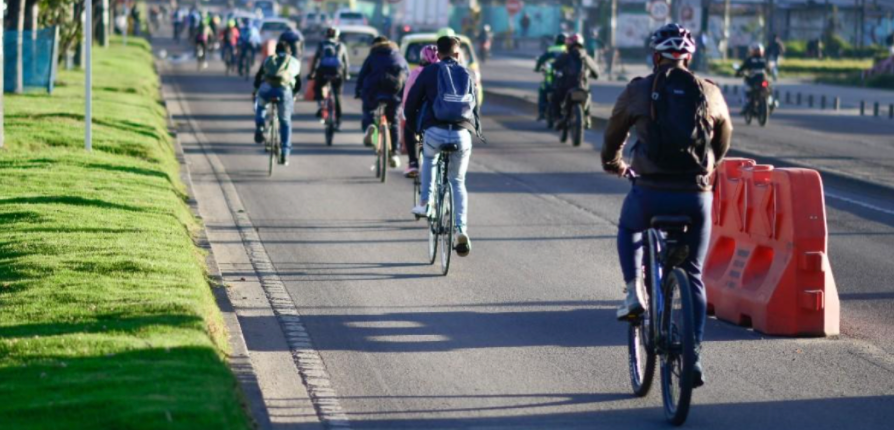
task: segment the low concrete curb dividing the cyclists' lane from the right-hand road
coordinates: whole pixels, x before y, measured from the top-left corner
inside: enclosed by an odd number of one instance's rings
[[[525,96],[519,96],[517,94],[512,94],[512,93],[508,93],[508,92],[495,91],[492,89],[491,90],[485,89],[484,94],[486,95],[485,100],[487,100],[489,98],[504,99],[504,100],[508,99],[508,100],[513,100],[513,101],[517,101],[517,102],[520,101],[525,104],[529,104],[535,108],[537,106],[536,96],[533,94],[531,95],[531,97],[525,97]],[[601,117],[601,116],[595,116],[595,115],[591,115],[591,118],[593,120],[594,127],[604,127],[605,125],[608,124],[608,120],[609,120],[609,118],[607,118],[607,117]],[[766,156],[766,155],[758,154],[755,152],[744,151],[742,149],[737,149],[735,147],[730,150],[729,155],[735,156],[735,157],[751,158],[751,159],[757,160],[758,163],[772,164],[776,167],[793,167],[793,168],[816,170],[816,171],[820,172],[820,175],[823,177],[824,180],[826,180],[826,179],[831,180],[831,182],[835,182],[835,183],[843,185],[843,186],[859,187],[864,191],[868,191],[868,192],[878,195],[878,196],[890,196],[892,193],[894,193],[894,186],[869,182],[863,178],[849,176],[849,175],[846,175],[843,173],[833,172],[833,171],[830,171],[827,169],[817,168],[814,166],[796,163],[796,162],[792,162],[792,161],[788,161],[788,160],[784,160],[784,159],[776,158],[776,157],[772,157],[772,156]]]

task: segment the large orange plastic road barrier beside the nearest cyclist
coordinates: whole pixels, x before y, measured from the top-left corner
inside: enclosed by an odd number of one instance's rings
[[[819,173],[733,158],[716,174],[708,312],[767,334],[838,334]]]

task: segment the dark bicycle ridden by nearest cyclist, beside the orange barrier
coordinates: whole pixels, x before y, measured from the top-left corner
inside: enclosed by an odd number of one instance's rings
[[[646,230],[643,272],[646,303],[631,317],[627,332],[633,394],[649,393],[656,358],[661,359],[661,394],[665,418],[681,425],[689,414],[695,379],[695,321],[689,275],[679,266],[689,256],[682,234],[692,225],[687,216],[656,216]]]

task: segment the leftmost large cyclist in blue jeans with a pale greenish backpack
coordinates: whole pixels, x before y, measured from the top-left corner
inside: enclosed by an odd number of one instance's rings
[[[255,143],[264,142],[267,104],[274,97],[279,99],[277,109],[282,139],[279,163],[286,166],[289,165],[289,155],[292,152],[293,97],[301,89],[300,74],[301,63],[292,56],[289,44],[279,42],[276,44],[276,54],[267,57],[258,69],[258,74],[255,75],[255,90],[252,93],[255,99]]]

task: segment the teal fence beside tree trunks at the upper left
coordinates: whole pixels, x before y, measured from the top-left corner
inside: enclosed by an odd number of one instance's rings
[[[59,50],[58,34],[56,27],[22,32],[22,82],[25,90],[53,92]],[[4,92],[14,91],[18,80],[17,37],[17,31],[6,31],[3,35]]]

